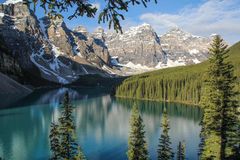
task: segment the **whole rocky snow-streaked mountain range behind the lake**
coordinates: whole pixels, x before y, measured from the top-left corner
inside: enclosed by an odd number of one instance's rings
[[[211,41],[178,28],[158,36],[149,24],[123,34],[101,27],[93,33],[83,26],[71,30],[61,18],[38,19],[22,0],[0,4],[0,38],[12,63],[27,73],[25,81],[61,84],[88,77],[84,75],[125,76],[200,63],[207,59]]]

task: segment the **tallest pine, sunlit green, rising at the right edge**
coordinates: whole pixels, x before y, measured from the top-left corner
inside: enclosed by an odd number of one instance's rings
[[[209,49],[211,54],[206,93],[202,99],[201,159],[231,159],[237,143],[237,101],[233,65],[226,62],[227,45],[216,36]]]

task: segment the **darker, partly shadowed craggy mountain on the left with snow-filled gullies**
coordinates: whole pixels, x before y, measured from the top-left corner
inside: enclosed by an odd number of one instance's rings
[[[67,84],[86,74],[111,76],[101,40],[71,31],[62,19],[38,20],[21,0],[0,4],[0,35],[23,70],[49,81]]]

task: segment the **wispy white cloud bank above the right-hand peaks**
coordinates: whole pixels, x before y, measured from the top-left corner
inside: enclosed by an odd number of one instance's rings
[[[240,1],[205,0],[203,4],[186,6],[177,14],[145,13],[140,16],[159,34],[179,26],[196,35],[222,35],[229,43],[240,41]]]

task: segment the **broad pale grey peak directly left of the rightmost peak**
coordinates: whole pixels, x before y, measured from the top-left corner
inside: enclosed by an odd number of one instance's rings
[[[111,56],[119,63],[154,67],[163,60],[160,39],[149,24],[131,27],[123,34],[107,33],[105,42]]]

